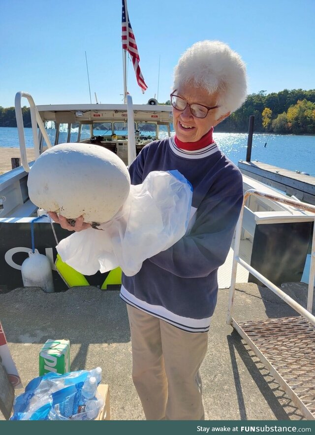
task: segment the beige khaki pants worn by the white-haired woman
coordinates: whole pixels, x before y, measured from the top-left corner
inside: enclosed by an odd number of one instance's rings
[[[204,420],[199,367],[208,333],[182,331],[127,304],[132,379],[147,420]]]

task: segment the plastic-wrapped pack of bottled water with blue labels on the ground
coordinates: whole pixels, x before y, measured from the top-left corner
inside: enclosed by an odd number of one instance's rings
[[[10,420],[95,420],[104,404],[97,392],[102,369],[46,373],[17,396]]]

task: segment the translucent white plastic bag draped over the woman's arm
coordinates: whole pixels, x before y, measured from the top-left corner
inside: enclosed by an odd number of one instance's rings
[[[150,172],[109,222],[71,234],[57,251],[63,262],[85,275],[120,266],[135,275],[142,263],[168,249],[186,233],[192,187],[177,170]]]

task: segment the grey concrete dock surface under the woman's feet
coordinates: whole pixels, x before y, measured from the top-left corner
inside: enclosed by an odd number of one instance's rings
[[[282,289],[306,306],[306,284]],[[219,290],[208,352],[201,367],[206,420],[303,420],[268,370],[226,324],[228,289]],[[259,320],[298,315],[270,290],[237,284],[233,317]],[[0,321],[24,387],[38,376],[38,355],[49,338],[70,340],[71,370],[102,368],[112,420],[143,420],[131,379],[126,304],[118,291],[76,287],[47,294],[18,288],[0,294]],[[16,390],[15,395],[24,390]],[[0,413],[0,420],[4,420]]]

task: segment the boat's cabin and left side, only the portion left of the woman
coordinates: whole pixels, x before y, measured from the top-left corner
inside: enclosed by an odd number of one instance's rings
[[[36,249],[51,262],[55,289],[64,291],[69,287],[69,282],[64,282],[64,276],[56,268],[58,259],[55,246],[69,232],[59,225],[53,225],[48,217],[31,225],[38,214],[43,212],[38,210],[28,195],[27,179],[33,162],[28,161],[25,145],[21,111],[23,97],[28,99],[31,106],[35,158],[47,147],[65,142],[82,142],[109,149],[126,165],[134,160],[147,143],[171,135],[172,107],[158,105],[155,99],[150,99],[148,104],[132,105],[130,95],[127,95],[126,104],[35,106],[30,94],[16,94],[15,109],[22,166],[0,175],[0,292],[23,287],[21,266],[31,250],[32,228]],[[57,264],[60,262],[59,259]],[[116,279],[117,273],[112,275],[115,278],[108,285],[116,288],[120,284],[119,276]],[[75,280],[74,284],[88,282],[102,287],[107,276],[106,273],[98,272],[87,277],[88,281],[82,278]]]

